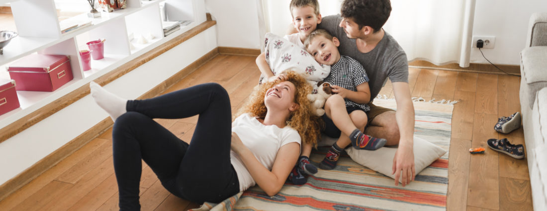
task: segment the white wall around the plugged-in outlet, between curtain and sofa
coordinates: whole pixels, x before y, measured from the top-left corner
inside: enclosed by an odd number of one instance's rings
[[[520,51],[526,45],[528,20],[532,13],[547,12],[545,0],[476,1],[474,36],[496,36],[493,49],[482,49],[494,64],[520,65]],[[471,49],[472,63],[488,63],[476,48]]]

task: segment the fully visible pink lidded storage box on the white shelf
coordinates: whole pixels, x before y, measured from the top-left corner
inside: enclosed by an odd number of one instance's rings
[[[70,58],[65,55],[32,54],[11,63],[9,77],[16,90],[55,91],[73,79]]]

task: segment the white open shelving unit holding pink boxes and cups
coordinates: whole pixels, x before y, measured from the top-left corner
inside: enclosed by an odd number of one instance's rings
[[[54,92],[18,91],[21,107],[0,115],[0,128],[206,21],[203,0],[126,0],[126,9],[111,13],[101,11],[101,17],[96,19],[90,19],[86,14],[71,17],[69,21],[87,20],[92,24],[61,33],[54,0],[0,0],[0,5],[5,3],[11,5],[19,36],[5,46],[4,54],[0,55],[0,67],[7,67],[30,54],[69,55],[74,79]],[[164,37],[160,3],[165,3],[170,20],[190,20],[191,24]],[[137,44],[136,39],[129,40],[130,33],[152,34],[154,38],[146,44]],[[83,71],[79,50],[88,50],[85,43],[100,38],[106,39],[104,58],[91,60],[91,70]],[[5,75],[0,74],[0,77]]]

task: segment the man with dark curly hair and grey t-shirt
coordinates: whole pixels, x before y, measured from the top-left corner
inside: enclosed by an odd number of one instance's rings
[[[405,186],[414,180],[414,106],[408,85],[408,61],[397,41],[382,29],[391,13],[389,0],[345,0],[341,15],[324,17],[318,28],[340,38],[340,53],[355,58],[369,74],[371,99],[389,79],[397,102],[397,112],[369,103],[365,133],[399,145],[393,158],[395,185],[399,177]],[[397,122],[397,124],[393,124]]]

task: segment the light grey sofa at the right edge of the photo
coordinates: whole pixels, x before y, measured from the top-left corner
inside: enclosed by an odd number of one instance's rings
[[[520,104],[533,207],[547,210],[547,13],[530,18],[520,55]]]

